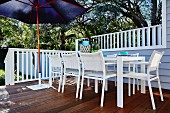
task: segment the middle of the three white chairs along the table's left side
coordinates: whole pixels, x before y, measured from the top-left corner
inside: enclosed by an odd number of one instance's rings
[[[76,98],[78,98],[79,87],[80,87],[80,76],[81,76],[80,58],[78,57],[78,53],[63,54],[62,59],[64,63],[64,77],[63,77],[62,93],[64,92],[64,85],[66,82],[66,77],[75,76],[77,77]]]

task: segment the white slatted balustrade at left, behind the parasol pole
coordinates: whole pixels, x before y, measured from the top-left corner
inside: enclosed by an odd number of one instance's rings
[[[41,74],[42,79],[49,77],[48,55],[70,54],[75,51],[41,50]],[[5,84],[38,80],[38,51],[37,49],[9,48],[5,58]]]

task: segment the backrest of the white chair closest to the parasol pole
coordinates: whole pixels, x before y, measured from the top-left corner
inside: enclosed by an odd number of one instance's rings
[[[49,55],[49,63],[51,67],[62,67],[62,60],[59,54]]]

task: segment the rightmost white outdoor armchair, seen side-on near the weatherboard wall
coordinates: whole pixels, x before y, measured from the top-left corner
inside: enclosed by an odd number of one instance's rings
[[[161,101],[163,101],[163,95],[162,95],[162,90],[161,90],[161,84],[160,84],[160,79],[159,79],[159,63],[160,60],[163,56],[164,52],[158,52],[158,51],[153,51],[149,62],[131,62],[131,64],[147,64],[147,73],[136,73],[136,72],[130,72],[128,74],[124,74],[124,77],[128,78],[136,78],[140,80],[147,80],[148,81],[148,86],[149,86],[149,92],[151,96],[151,102],[152,102],[152,108],[155,110],[155,102],[153,98],[153,92],[151,88],[151,81],[157,80],[158,81],[158,87],[159,87],[159,92],[160,92],[160,97]],[[150,72],[155,71],[156,74],[153,75]]]

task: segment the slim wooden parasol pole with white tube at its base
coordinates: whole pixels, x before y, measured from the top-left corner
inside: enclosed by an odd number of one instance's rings
[[[41,73],[40,73],[40,27],[39,27],[39,17],[38,17],[38,6],[36,6],[36,19],[37,19],[37,37],[38,37],[38,76],[39,76],[39,85],[41,85]]]

